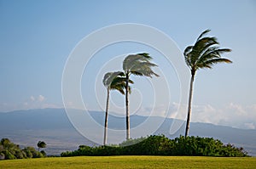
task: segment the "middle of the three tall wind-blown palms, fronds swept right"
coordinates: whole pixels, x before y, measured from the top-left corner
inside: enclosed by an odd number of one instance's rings
[[[130,112],[129,112],[129,81],[131,75],[136,76],[159,76],[151,69],[157,66],[150,62],[152,59],[149,54],[130,54],[123,61],[125,73],[125,108],[126,108],[126,139],[130,139]]]

